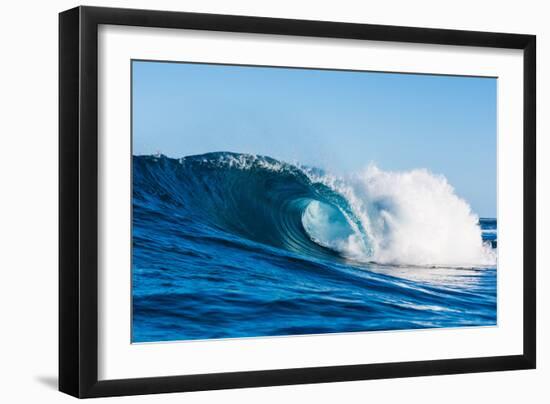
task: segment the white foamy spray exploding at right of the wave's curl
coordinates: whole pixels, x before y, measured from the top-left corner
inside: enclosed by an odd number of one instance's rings
[[[339,232],[333,244],[350,258],[392,265],[496,264],[495,251],[482,241],[478,216],[442,175],[425,169],[389,172],[371,165],[346,179],[310,178],[344,196],[360,221],[362,232],[354,229],[345,240]]]

